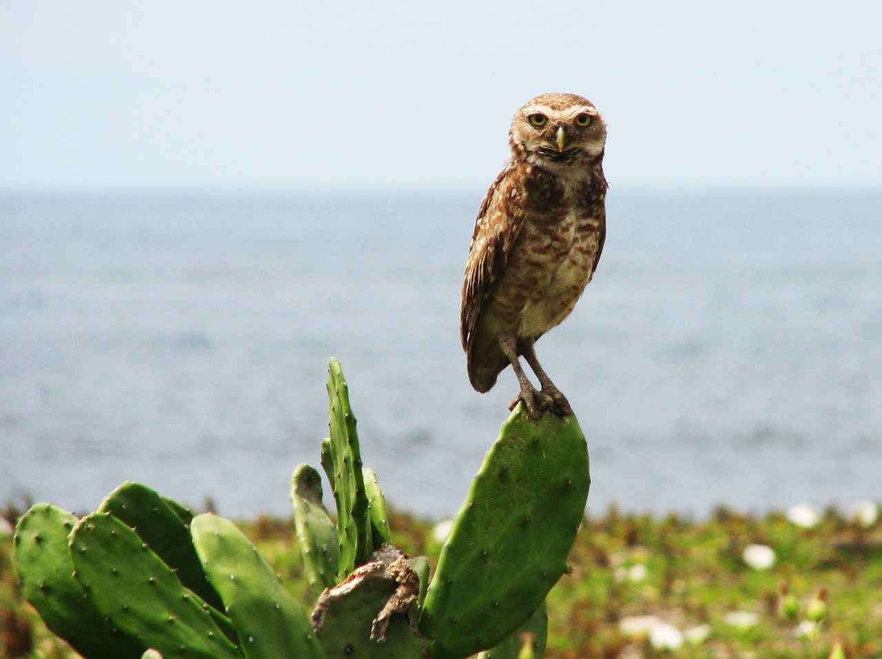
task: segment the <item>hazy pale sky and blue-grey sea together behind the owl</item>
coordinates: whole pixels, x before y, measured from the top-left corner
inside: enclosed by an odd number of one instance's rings
[[[462,270],[514,111],[609,123],[608,239],[538,344],[588,510],[882,498],[882,5],[0,5],[0,502],[288,513],[339,358],[392,505],[456,511]]]

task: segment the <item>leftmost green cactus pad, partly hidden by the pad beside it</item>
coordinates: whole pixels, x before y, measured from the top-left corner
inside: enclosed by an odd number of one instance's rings
[[[144,646],[120,633],[73,578],[68,537],[77,516],[38,503],[15,528],[15,565],[25,599],[54,633],[86,657],[137,659]]]

